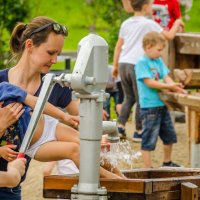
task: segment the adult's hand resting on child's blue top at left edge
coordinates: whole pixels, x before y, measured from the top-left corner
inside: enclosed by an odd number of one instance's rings
[[[3,102],[0,102],[0,137],[1,134],[23,114],[24,109],[20,103],[11,103],[2,108]]]

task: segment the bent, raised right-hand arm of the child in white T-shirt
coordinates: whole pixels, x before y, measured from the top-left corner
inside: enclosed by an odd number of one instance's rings
[[[184,23],[181,19],[177,19],[169,31],[164,30],[161,34],[163,34],[167,40],[172,40],[180,29],[184,29]]]

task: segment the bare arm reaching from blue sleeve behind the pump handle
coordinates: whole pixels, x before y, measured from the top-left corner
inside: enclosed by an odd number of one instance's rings
[[[24,104],[28,105],[32,109],[34,109],[38,97],[35,97],[33,95],[27,94],[25,100],[23,101]],[[49,102],[46,103],[44,108],[44,113],[47,115],[50,115],[52,117],[57,118],[59,121],[68,124],[73,127],[77,127],[79,124],[79,117],[78,116],[72,116],[67,113],[64,113],[54,105],[50,104]]]

